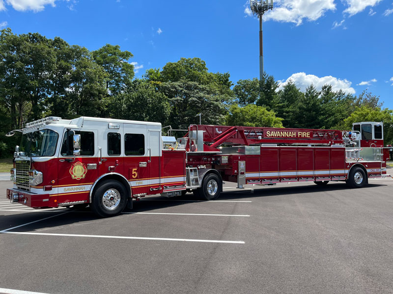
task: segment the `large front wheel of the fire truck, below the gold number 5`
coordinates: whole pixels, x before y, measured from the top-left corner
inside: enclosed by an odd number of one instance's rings
[[[120,214],[127,204],[125,187],[115,180],[104,181],[94,192],[91,210],[102,218]]]

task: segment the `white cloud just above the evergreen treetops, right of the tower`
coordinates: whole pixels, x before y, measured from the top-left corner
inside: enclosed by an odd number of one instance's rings
[[[293,73],[285,82],[279,83],[279,90],[290,80],[292,80],[301,91],[306,91],[306,88],[311,84],[313,84],[317,90],[321,90],[323,85],[329,84],[332,85],[333,91],[341,89],[345,93],[355,94],[355,89],[351,87],[352,83],[347,79],[342,80],[331,75],[318,77],[306,73]]]

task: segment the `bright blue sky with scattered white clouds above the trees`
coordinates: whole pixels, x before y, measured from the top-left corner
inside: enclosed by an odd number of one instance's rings
[[[393,108],[393,0],[277,0],[264,16],[264,67],[302,90],[310,83]],[[259,76],[258,20],[246,0],[0,0],[0,27],[134,54],[136,76],[199,57],[231,80]]]

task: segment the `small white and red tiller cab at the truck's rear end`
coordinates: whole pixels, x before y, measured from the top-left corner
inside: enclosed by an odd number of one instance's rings
[[[359,147],[383,147],[383,123],[362,122],[353,123],[352,131],[356,134]]]

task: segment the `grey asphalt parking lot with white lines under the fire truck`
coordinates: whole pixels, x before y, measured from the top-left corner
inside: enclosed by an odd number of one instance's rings
[[[225,183],[99,219],[11,204],[0,181],[0,293],[392,293],[393,180],[369,182]]]

